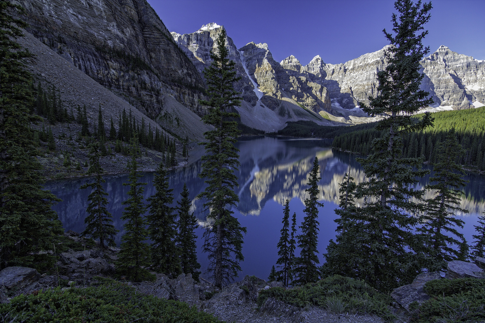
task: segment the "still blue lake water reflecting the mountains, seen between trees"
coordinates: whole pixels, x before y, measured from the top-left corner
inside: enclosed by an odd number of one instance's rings
[[[365,180],[360,165],[356,162],[355,156],[340,153],[328,148],[330,141],[324,139],[295,139],[295,138],[272,138],[272,137],[251,137],[242,138],[238,141],[240,149],[241,167],[236,172],[238,175],[239,188],[236,192],[240,197],[240,203],[234,209],[234,215],[239,219],[242,226],[247,228],[244,236],[242,252],[244,261],[241,263],[244,275],[256,275],[266,279],[275,264],[277,256],[276,244],[278,243],[281,220],[283,216],[283,204],[290,200],[291,214],[296,212],[297,222],[301,223],[304,217],[303,201],[307,198],[307,176],[313,166],[315,156],[318,157],[321,169],[322,180],[319,182],[320,197],[324,206],[319,209],[319,245],[320,261],[330,239],[335,238],[337,227],[334,209],[339,201],[339,183],[343,175],[349,170],[357,182]],[[199,220],[198,239],[198,261],[201,270],[207,268],[207,257],[201,252],[202,232],[205,224],[206,214],[203,211],[201,200],[195,196],[204,188],[204,181],[197,177],[201,170],[200,157],[203,154],[201,147],[191,150],[189,163],[186,167],[174,170],[170,173],[170,187],[174,189],[174,206],[176,200],[180,200],[180,193],[184,183],[190,190],[192,200],[192,211]],[[142,182],[148,183],[145,189],[145,197],[154,194],[155,190],[151,184],[153,173],[144,173]],[[460,214],[465,221],[465,227],[460,231],[465,234],[467,241],[472,241],[474,233],[473,225],[477,225],[477,217],[485,209],[485,177],[477,174],[467,174],[469,184],[464,188],[462,207],[469,210],[469,214]],[[123,221],[120,219],[124,206],[121,204],[127,199],[128,186],[126,183],[128,175],[107,176],[104,184],[105,190],[109,193],[108,210],[113,215],[113,224],[120,230],[116,237],[119,244],[123,234]],[[429,175],[422,179],[420,185],[426,185]],[[57,211],[65,230],[82,232],[85,228],[84,218],[88,205],[87,196],[89,189],[81,190],[79,187],[88,182],[89,179],[49,181],[46,188],[62,199],[62,202],[53,206]],[[428,193],[431,197],[431,193]],[[204,277],[204,276],[203,276]]]

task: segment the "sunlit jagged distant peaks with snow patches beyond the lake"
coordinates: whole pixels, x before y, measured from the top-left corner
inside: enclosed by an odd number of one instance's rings
[[[210,23],[190,34],[172,32],[178,46],[201,75],[210,64],[210,50],[217,52],[215,40],[223,28]],[[312,116],[318,114],[339,123],[373,121],[362,112],[358,102],[368,104],[368,96],[376,95],[377,72],[386,68],[386,47],[340,64],[326,64],[317,55],[304,66],[292,55],[275,62],[267,44],[249,43],[237,49],[230,37],[226,38],[226,44],[230,59],[236,62],[238,73],[242,76],[237,89],[243,92],[245,101],[240,109],[244,123],[258,127],[257,122],[250,119],[270,118],[273,115],[269,110],[277,112],[279,124],[283,121],[312,120],[300,114],[303,110],[311,111]],[[485,62],[440,46],[421,64],[425,74],[421,88],[430,92],[435,101],[427,110],[470,108],[471,105],[478,108],[485,103]],[[285,101],[304,109],[291,110],[288,117],[287,110],[282,108]],[[249,106],[253,107],[252,111]],[[244,117],[246,112],[252,114]],[[273,123],[260,124],[259,128],[270,130],[268,127],[277,126],[276,119]]]

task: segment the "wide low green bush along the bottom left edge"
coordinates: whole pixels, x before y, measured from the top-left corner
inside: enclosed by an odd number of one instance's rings
[[[3,322],[119,322],[140,318],[146,323],[216,323],[210,314],[195,307],[137,293],[126,284],[112,283],[100,287],[71,288],[35,292],[14,297],[0,304]]]

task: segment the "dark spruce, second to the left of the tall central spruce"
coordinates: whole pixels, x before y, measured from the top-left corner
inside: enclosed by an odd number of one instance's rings
[[[152,244],[150,247],[151,267],[159,273],[178,276],[181,273],[178,261],[178,248],[175,245],[177,235],[174,207],[173,189],[169,188],[169,179],[163,164],[160,164],[153,180],[155,194],[147,199],[148,207],[148,231]]]

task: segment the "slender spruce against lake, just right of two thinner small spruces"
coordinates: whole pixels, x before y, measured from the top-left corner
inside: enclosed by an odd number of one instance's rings
[[[297,236],[298,246],[301,248],[300,256],[295,260],[294,268],[292,269],[295,276],[293,285],[305,285],[307,283],[316,282],[319,278],[319,269],[317,264],[320,263],[318,259],[318,207],[323,206],[323,203],[317,201],[320,190],[318,188],[318,181],[322,179],[319,176],[320,165],[318,158],[315,157],[313,161],[313,168],[310,171],[308,179],[308,186],[305,191],[308,192],[308,199],[305,200],[306,216],[303,218],[300,229],[302,234]]]

